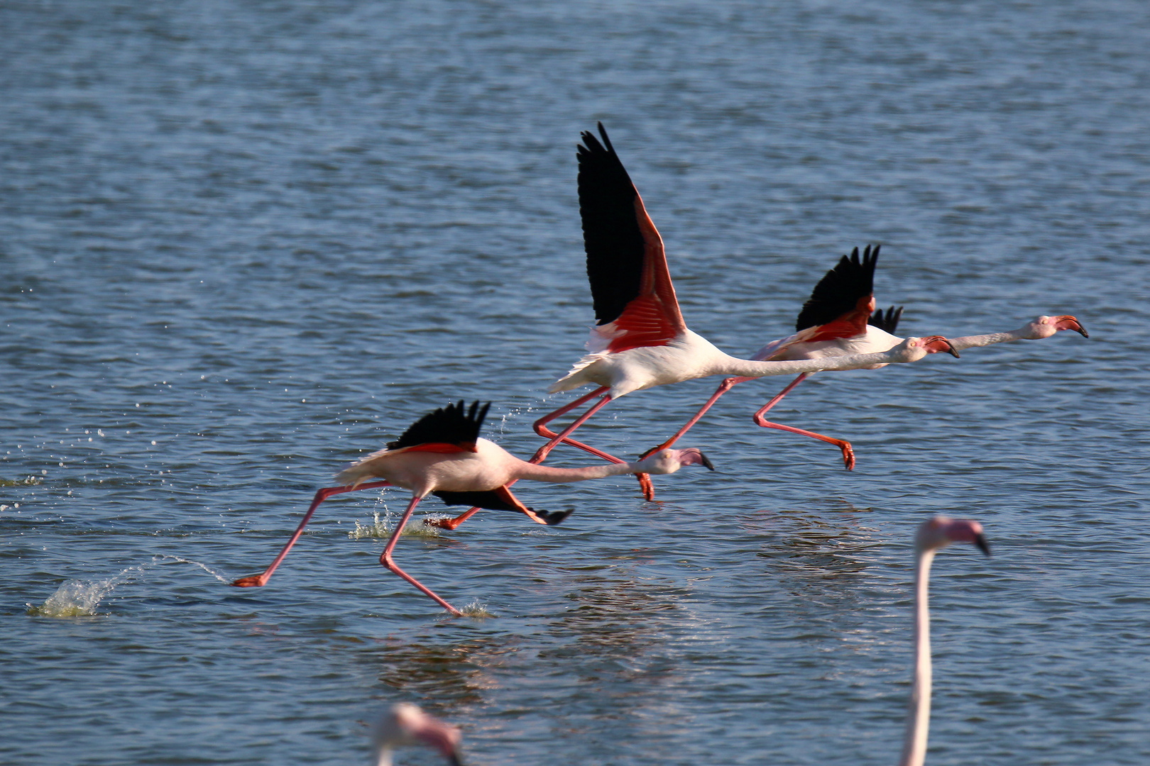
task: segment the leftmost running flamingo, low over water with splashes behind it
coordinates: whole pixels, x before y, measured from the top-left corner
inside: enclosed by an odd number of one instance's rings
[[[402,487],[412,490],[412,500],[388,540],[383,555],[379,556],[379,563],[459,617],[462,612],[399,568],[391,556],[415,506],[428,495],[436,495],[448,505],[516,511],[538,524],[555,525],[567,518],[570,511],[549,513],[532,510],[511,494],[508,487],[520,479],[566,483],[623,473],[674,473],[684,465],[704,465],[714,470],[711,461],[693,448],[662,450],[637,463],[582,469],[554,469],[527,463],[494,442],[480,439],[480,428],[490,407],[491,403],[488,402],[481,409],[476,401],[471,403],[470,409],[465,410],[463,402],[460,401],[458,404],[439,408],[412,424],[398,440],[389,442],[385,449],[347,466],[336,477],[339,486],[325,487],[315,493],[312,505],[304,514],[296,533],[271,565],[262,574],[240,578],[231,585],[238,588],[267,585],[271,573],[302,534],[315,509],[328,497],[356,489]],[[368,482],[367,480],[371,478],[383,481]]]

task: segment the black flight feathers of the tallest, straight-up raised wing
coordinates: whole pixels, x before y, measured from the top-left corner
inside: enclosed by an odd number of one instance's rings
[[[586,277],[595,318],[605,325],[619,318],[639,294],[644,240],[635,214],[635,184],[620,162],[607,131],[603,144],[583,131],[578,147],[578,211],[583,218]]]

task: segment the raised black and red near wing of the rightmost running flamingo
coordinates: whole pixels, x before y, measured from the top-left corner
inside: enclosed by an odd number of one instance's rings
[[[867,245],[861,260],[857,247],[849,257],[844,255],[814,286],[799,311],[795,331],[818,327],[816,336],[807,340],[853,338],[865,333],[874,311],[874,266],[881,247],[875,245],[872,249]]]

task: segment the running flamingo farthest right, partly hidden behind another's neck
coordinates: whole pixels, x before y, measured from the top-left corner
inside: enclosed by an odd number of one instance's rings
[[[874,300],[874,269],[879,261],[879,250],[882,246],[868,245],[859,258],[859,249],[856,247],[850,256],[843,256],[834,269],[828,271],[819,284],[815,285],[811,297],[803,304],[798,319],[795,323],[795,334],[788,338],[770,341],[759,349],[753,358],[756,359],[811,359],[850,354],[865,354],[885,350],[899,343],[902,338],[895,335],[898,319],[903,315],[903,307],[890,307],[885,311],[875,310]],[[1060,330],[1073,330],[1086,338],[1090,335],[1079,320],[1072,316],[1058,317],[1041,316],[1034,322],[1027,323],[1019,330],[1005,333],[990,333],[986,335],[966,335],[963,338],[951,338],[950,346],[954,354],[977,346],[989,346],[1012,340],[1037,340],[1050,338]],[[885,366],[875,364],[867,366],[867,370],[877,370]],[[810,378],[813,372],[804,372],[779,392],[770,401],[764,404],[754,413],[754,423],[765,428],[777,428],[791,433],[811,436],[821,441],[835,444],[843,452],[843,463],[846,470],[854,467],[854,449],[851,443],[833,436],[825,436],[813,431],[804,431],[793,426],[782,425],[767,420],[762,416],[782,400],[783,396],[795,389],[800,382]],[[665,441],[654,447],[651,452],[674,446],[678,439],[690,431],[691,426],[698,423],[699,418],[711,409],[711,407],[736,384],[752,380],[750,377],[727,378],[715,393],[711,395],[695,416],[688,420],[682,428]],[[644,493],[651,486],[641,478]],[[651,500],[651,496],[647,496]]]

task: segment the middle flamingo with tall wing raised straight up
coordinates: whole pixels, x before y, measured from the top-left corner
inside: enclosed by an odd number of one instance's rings
[[[857,354],[834,358],[795,361],[741,359],[729,356],[702,335],[691,332],[678,309],[667,269],[662,239],[643,207],[643,200],[615,154],[599,123],[603,142],[582,133],[578,147],[578,198],[583,219],[586,272],[597,325],[591,328],[590,351],[550,393],[598,386],[590,394],[565,404],[535,423],[535,431],[549,442],[531,458],[542,462],[559,443],[566,442],[604,459],[620,458],[570,439],[570,433],[603,409],[607,402],[653,386],[707,376],[767,376],[811,373],[820,370],[853,370],[876,364],[914,362],[927,354],[954,350],[941,335],[908,338],[888,346],[881,354]],[[895,343],[891,343],[895,346]],[[561,432],[547,428],[551,420],[600,396]],[[650,480],[642,478],[644,493]]]

